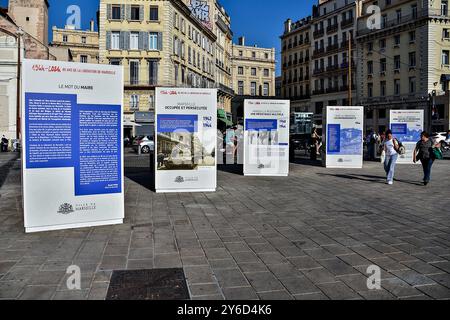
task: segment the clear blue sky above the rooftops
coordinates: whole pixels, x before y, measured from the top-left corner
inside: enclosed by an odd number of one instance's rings
[[[81,8],[82,28],[89,28],[89,21],[96,20],[96,0],[50,0],[50,26],[63,27],[66,24],[70,5]],[[7,0],[0,0],[2,6]],[[275,47],[280,60],[280,39],[283,23],[287,18],[297,20],[311,14],[311,7],[317,0],[220,0],[231,16],[234,41],[244,35],[247,45]],[[50,35],[51,39],[51,35]],[[278,63],[277,74],[280,73]]]

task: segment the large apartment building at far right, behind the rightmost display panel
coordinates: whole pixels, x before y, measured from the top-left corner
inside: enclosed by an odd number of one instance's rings
[[[361,0],[357,7],[357,98],[366,129],[384,131],[391,109],[423,109],[428,130],[448,130],[448,1]]]

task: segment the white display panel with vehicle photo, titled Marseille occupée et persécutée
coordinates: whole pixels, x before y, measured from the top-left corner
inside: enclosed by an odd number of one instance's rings
[[[217,188],[217,90],[156,89],[156,192]]]

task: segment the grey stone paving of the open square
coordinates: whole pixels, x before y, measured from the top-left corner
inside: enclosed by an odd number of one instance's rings
[[[428,187],[420,166],[389,187],[378,163],[300,161],[289,178],[226,168],[200,194],[153,193],[147,161],[127,155],[125,224],[25,234],[20,162],[0,154],[0,299],[104,299],[112,270],[177,267],[192,299],[450,299],[448,160]],[[74,264],[80,291],[66,286]]]

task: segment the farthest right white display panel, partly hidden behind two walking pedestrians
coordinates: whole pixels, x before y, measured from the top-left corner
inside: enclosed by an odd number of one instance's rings
[[[392,130],[392,135],[406,149],[404,155],[399,155],[397,163],[413,164],[413,152],[424,130],[424,111],[391,110],[389,119],[389,128]]]

